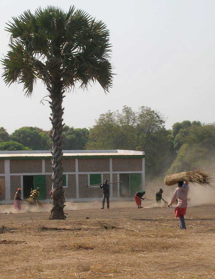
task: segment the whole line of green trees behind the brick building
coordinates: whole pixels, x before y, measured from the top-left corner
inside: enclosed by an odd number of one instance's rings
[[[50,150],[52,130],[21,127],[11,135],[0,127],[0,150]],[[185,120],[165,128],[165,118],[150,107],[101,114],[92,128],[63,127],[64,150],[131,149],[146,154],[147,178],[165,172],[210,169],[215,158],[215,123]]]

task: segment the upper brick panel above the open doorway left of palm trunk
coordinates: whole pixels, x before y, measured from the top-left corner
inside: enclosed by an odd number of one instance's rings
[[[42,172],[42,160],[10,160],[10,173]]]

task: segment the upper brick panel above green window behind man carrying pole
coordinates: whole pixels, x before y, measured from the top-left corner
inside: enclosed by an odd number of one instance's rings
[[[79,172],[109,172],[110,159],[78,159]]]

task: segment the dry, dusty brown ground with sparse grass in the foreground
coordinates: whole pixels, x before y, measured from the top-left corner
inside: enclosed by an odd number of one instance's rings
[[[215,278],[215,205],[189,207],[186,231],[174,208],[68,208],[65,221],[47,211],[0,214],[0,278]]]

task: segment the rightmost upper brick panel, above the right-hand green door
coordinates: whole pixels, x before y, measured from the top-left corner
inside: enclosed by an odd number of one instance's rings
[[[112,159],[113,172],[142,171],[142,158]]]

